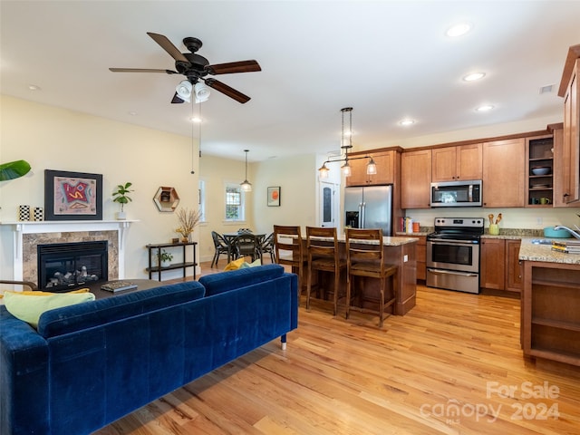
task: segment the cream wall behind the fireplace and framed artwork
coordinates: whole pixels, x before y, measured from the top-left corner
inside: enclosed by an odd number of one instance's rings
[[[102,174],[105,220],[119,210],[111,201],[113,188],[131,181],[135,191],[125,211],[139,222],[131,225],[127,238],[126,275],[146,277],[145,245],[178,236],[175,215],[160,212],[153,203],[157,189],[177,189],[179,207],[198,204],[198,159],[191,175],[190,138],[7,96],[0,102],[0,161],[24,159],[33,168],[23,178],[0,182],[0,221],[16,221],[20,204],[43,207],[44,169]],[[0,226],[0,275],[6,279],[13,275],[12,240],[12,227]]]

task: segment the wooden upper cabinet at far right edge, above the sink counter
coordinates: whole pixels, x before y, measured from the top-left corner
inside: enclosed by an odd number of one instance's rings
[[[570,47],[558,95],[564,97],[563,196],[565,203],[580,202],[580,44]]]

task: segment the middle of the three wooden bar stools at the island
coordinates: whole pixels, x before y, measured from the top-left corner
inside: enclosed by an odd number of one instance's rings
[[[346,260],[339,256],[336,228],[306,227],[306,251],[308,253],[306,309],[310,310],[313,271],[332,272],[334,275],[333,315],[336,315],[341,271],[346,268]]]

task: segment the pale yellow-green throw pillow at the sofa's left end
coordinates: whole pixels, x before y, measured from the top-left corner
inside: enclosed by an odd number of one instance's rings
[[[89,293],[88,289],[69,293],[5,292],[4,294],[6,310],[34,328],[38,327],[38,319],[45,311],[89,301],[94,301],[94,295]]]

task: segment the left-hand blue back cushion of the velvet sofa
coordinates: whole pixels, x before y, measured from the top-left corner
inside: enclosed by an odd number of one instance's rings
[[[71,333],[200,299],[204,294],[203,285],[197,281],[188,281],[114,295],[89,304],[67,306],[42,314],[38,322],[38,333],[44,338]]]

